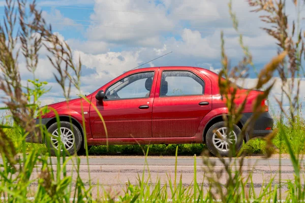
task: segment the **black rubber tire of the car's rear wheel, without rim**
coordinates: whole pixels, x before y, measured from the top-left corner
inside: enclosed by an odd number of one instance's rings
[[[205,137],[206,146],[207,146],[208,150],[212,154],[214,154],[215,156],[218,156],[218,155],[220,155],[220,156],[229,156],[229,154],[230,154],[230,151],[221,151],[221,150],[218,150],[217,147],[213,144],[213,136],[214,136],[215,131],[218,130],[218,129],[221,129],[223,127],[225,127],[225,122],[224,121],[215,123],[214,125],[212,125],[208,129],[208,131],[206,133],[206,137]],[[239,137],[240,133],[241,133],[240,128],[237,125],[234,124],[233,131],[236,134],[237,142],[235,144],[235,154],[232,154],[232,156],[237,154],[237,152],[241,149],[242,143],[243,143],[243,139],[241,139]]]

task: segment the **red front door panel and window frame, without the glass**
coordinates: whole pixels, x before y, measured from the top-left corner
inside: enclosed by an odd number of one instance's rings
[[[153,85],[149,98],[102,100],[92,97],[92,105],[95,105],[107,128],[107,135],[98,112],[90,108],[90,125],[94,139],[121,139],[121,138],[151,138],[151,113],[158,77],[158,69],[148,69],[147,72],[155,72]],[[121,79],[124,79],[137,72],[123,74],[112,83],[108,83],[100,90],[106,92],[107,88]],[[148,109],[139,109],[140,106],[147,105]]]

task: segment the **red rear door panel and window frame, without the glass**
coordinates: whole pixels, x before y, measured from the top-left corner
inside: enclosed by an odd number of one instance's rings
[[[170,71],[189,71],[203,79],[205,82],[204,94],[161,97],[160,81],[163,71],[167,70],[166,67],[161,67],[159,70],[153,106],[153,138],[193,137],[200,121],[212,107],[211,82],[205,75],[191,67],[176,67]],[[199,106],[202,101],[209,104]]]

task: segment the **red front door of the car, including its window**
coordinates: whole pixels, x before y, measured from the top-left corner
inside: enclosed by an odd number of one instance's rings
[[[157,77],[155,71],[134,73],[109,85],[102,101],[93,104],[105,120],[108,139],[150,138],[151,113]],[[90,108],[93,138],[106,138],[103,122]]]

